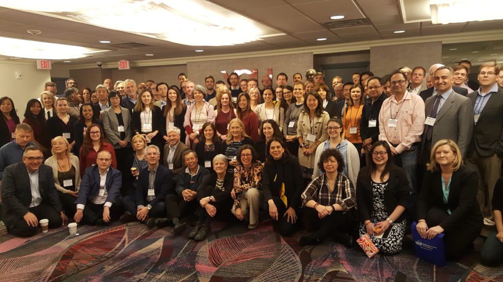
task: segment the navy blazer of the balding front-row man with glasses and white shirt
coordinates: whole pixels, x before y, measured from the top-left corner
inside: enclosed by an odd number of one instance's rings
[[[100,171],[98,166],[91,166],[86,169],[82,181],[80,182],[80,190],[78,190],[78,198],[75,204],[86,205],[91,201],[100,190]],[[122,173],[112,166],[107,173],[105,189],[107,190],[107,202],[115,203],[121,197]]]

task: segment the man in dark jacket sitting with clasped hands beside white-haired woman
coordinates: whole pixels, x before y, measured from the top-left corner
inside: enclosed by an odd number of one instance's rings
[[[183,159],[187,168],[185,172],[174,177],[176,183],[175,192],[166,196],[166,218],[155,220],[155,226],[164,227],[173,222],[175,234],[182,233],[187,228],[187,222],[180,222],[185,215],[192,215],[199,207],[197,201],[197,190],[205,176],[209,176],[209,171],[198,165],[196,152],[185,151]]]

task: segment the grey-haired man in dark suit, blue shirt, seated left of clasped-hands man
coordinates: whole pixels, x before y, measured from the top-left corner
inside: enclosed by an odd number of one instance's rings
[[[131,222],[138,219],[145,222],[148,228],[152,228],[155,218],[166,216],[164,200],[172,190],[173,173],[159,165],[159,157],[160,151],[157,146],[147,147],[145,160],[148,167],[140,171],[134,198],[131,196],[124,198],[126,213],[121,216],[121,221]]]

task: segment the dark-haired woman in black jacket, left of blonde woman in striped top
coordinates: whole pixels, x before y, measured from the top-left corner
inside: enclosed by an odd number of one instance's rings
[[[210,174],[214,172],[212,160],[216,155],[220,154],[222,145],[216,136],[215,124],[206,122],[202,127],[203,135],[200,137],[200,142],[196,144],[197,162],[203,168],[206,168]],[[227,167],[227,164],[225,165]]]

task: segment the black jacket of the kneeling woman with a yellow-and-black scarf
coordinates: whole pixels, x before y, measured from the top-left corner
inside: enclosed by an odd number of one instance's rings
[[[266,163],[263,170],[262,186],[259,189],[264,193],[264,201],[267,202],[273,198],[273,195],[279,196],[280,191],[274,187],[274,178],[276,177],[278,167],[273,162]],[[300,194],[304,191],[304,181],[302,180],[302,169],[299,160],[290,155],[288,160],[283,163],[283,181],[285,183],[285,195],[287,198],[287,208],[297,209],[300,207]]]

